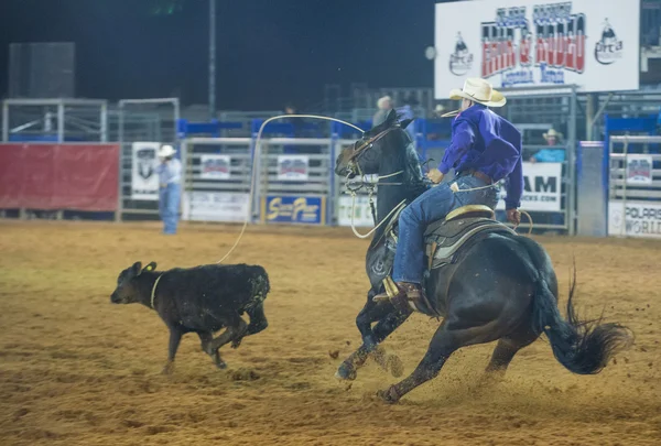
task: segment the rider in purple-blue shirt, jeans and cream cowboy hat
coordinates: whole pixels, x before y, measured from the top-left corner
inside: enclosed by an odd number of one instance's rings
[[[425,298],[422,290],[424,272],[424,230],[449,211],[466,205],[486,205],[491,209],[498,203],[497,183],[508,178],[507,218],[521,222],[523,172],[521,164],[521,132],[488,107],[502,107],[506,99],[491,84],[468,78],[463,90],[449,93],[453,100],[462,100],[462,109],[452,126],[452,143],[445,151],[438,168],[427,173],[433,183],[441,183],[454,168],[455,181],[430,188],[404,208],[399,217],[399,241],[392,279],[400,295],[409,301]],[[456,112],[455,112],[456,113]],[[447,113],[447,116],[454,113]],[[387,298],[387,293],[375,301]]]

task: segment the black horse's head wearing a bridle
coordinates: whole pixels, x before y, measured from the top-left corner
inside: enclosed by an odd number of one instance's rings
[[[391,110],[383,123],[365,132],[354,145],[339,153],[335,162],[335,173],[349,178],[356,175],[371,175],[379,173],[384,161],[397,164],[398,160],[403,160],[403,156],[397,154],[404,154],[411,142],[404,130],[411,121],[398,121],[397,112]]]

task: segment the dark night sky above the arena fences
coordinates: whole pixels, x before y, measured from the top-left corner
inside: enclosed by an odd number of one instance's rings
[[[433,85],[434,0],[217,1],[219,109],[304,108],[324,84]],[[61,41],[76,43],[79,97],[206,104],[207,0],[0,0],[0,30],[2,96],[9,43]]]

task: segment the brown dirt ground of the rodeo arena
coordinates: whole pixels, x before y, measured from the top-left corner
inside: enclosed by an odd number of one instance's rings
[[[188,335],[165,377],[167,329],[143,306],[110,304],[117,274],[138,260],[213,263],[239,228],[159,230],[0,222],[1,445],[661,444],[659,242],[540,239],[563,298],[574,255],[579,311],[604,309],[636,334],[600,374],[571,374],[538,340],[486,387],[478,380],[494,345],[476,346],[390,406],[373,395],[395,379],[373,362],[351,385],[334,378],[359,342],[366,241],[336,228],[249,228],[229,261],[268,270],[269,328],[221,350],[228,370]],[[405,373],[437,325],[414,315],[384,344]]]

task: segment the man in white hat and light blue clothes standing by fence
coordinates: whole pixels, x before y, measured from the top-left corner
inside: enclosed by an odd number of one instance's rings
[[[159,150],[161,164],[156,167],[159,174],[159,214],[163,220],[163,233],[176,233],[178,220],[182,163],[174,157],[176,151],[172,145],[163,145]]]

